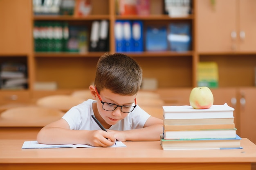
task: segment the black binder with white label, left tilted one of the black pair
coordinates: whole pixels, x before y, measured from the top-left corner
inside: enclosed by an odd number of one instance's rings
[[[92,22],[92,30],[90,36],[90,50],[89,51],[97,51],[98,42],[99,42],[99,21]]]

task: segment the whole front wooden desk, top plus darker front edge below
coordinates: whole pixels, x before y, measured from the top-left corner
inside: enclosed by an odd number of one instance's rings
[[[243,149],[162,150],[159,141],[124,142],[124,148],[21,149],[24,139],[0,139],[0,169],[9,170],[251,170],[256,145]]]

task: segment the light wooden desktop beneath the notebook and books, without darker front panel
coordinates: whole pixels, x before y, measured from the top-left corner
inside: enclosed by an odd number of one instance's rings
[[[243,149],[162,150],[159,141],[124,142],[125,148],[21,149],[24,139],[0,140],[0,163],[249,163],[256,145],[243,138]]]

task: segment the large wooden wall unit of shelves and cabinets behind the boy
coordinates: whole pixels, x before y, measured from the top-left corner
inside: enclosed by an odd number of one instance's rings
[[[252,104],[243,105],[240,99],[254,100],[256,96],[256,16],[255,0],[191,0],[192,13],[187,17],[164,15],[163,3],[150,0],[150,15],[119,16],[115,14],[115,0],[92,0],[92,13],[85,17],[33,15],[32,0],[0,1],[0,63],[21,59],[27,63],[29,85],[25,90],[0,90],[0,104],[10,102],[30,102],[49,94],[70,94],[75,89],[87,89],[94,81],[98,58],[104,52],[67,53],[34,52],[33,25],[37,21],[69,22],[88,26],[89,36],[94,20],[108,20],[110,23],[110,52],[115,52],[114,26],[116,20],[142,20],[148,24],[169,24],[172,22],[191,23],[192,46],[188,52],[141,52],[127,53],[138,61],[145,78],[156,78],[159,89],[191,89],[197,86],[197,65],[199,61],[215,61],[219,68],[219,88],[216,95],[225,91],[225,99],[234,107],[238,117],[254,113]],[[246,18],[246,19],[245,19]],[[231,37],[236,32],[236,38]],[[244,31],[245,37],[243,37]],[[240,37],[240,33],[241,36]],[[56,91],[35,91],[36,81],[56,81]],[[224,91],[223,91],[224,90]],[[230,92],[231,91],[231,92]],[[167,90],[168,92],[168,90]],[[223,94],[224,95],[224,94]],[[174,98],[186,95],[176,94]],[[166,99],[168,100],[168,99]],[[218,99],[219,100],[219,99]],[[182,100],[184,101],[184,100]],[[216,103],[219,103],[216,101]],[[232,104],[232,105],[233,105]],[[239,122],[254,124],[253,116]],[[252,127],[252,126],[251,126]],[[247,137],[248,128],[241,128],[241,137]],[[245,136],[243,136],[245,134]],[[256,142],[256,136],[250,136]],[[249,139],[250,139],[249,138]]]

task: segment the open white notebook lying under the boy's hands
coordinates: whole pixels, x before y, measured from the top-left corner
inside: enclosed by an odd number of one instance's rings
[[[126,147],[121,141],[116,142],[117,145],[112,145],[110,147]],[[39,144],[35,141],[25,141],[22,145],[22,149],[36,149],[36,148],[97,148],[96,146],[84,145],[84,144],[63,144],[63,145],[49,145],[49,144]]]

